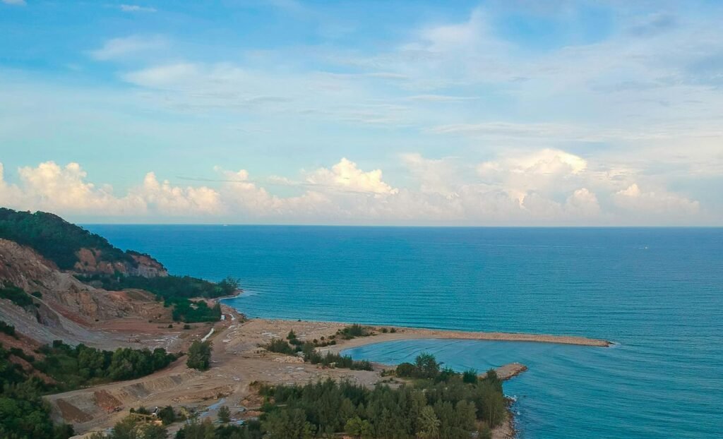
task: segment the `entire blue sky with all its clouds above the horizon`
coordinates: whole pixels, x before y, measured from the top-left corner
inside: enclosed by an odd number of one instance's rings
[[[723,226],[720,1],[0,0],[0,205]]]

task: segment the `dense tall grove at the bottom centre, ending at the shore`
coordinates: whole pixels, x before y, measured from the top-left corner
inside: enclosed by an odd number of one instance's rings
[[[427,356],[416,363],[432,366]],[[354,438],[401,439],[469,438],[477,432],[485,438],[507,413],[502,385],[494,373],[476,383],[442,370],[397,389],[381,385],[369,390],[328,380],[262,387],[261,393],[269,401],[261,417],[264,438],[314,438],[342,432]]]

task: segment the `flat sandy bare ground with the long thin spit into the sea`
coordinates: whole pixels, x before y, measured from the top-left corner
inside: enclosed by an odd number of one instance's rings
[[[259,348],[272,338],[286,337],[292,329],[301,340],[320,339],[336,333],[343,323],[306,322],[290,320],[253,319],[241,323],[242,317],[236,310],[223,307],[226,320],[213,325],[214,331],[208,336],[213,341],[211,369],[207,372],[190,370],[181,358],[165,370],[137,380],[100,385],[67,393],[48,396],[53,407],[54,417],[72,422],[79,433],[105,430],[125,417],[132,407],[138,406],[186,406],[206,410],[202,416],[215,418],[221,405],[231,409],[232,417],[242,419],[252,416],[260,401],[254,398],[253,383],[307,383],[309,381],[333,378],[350,380],[361,385],[373,386],[385,380],[385,383],[397,385],[401,381],[395,378],[382,378],[383,365],[375,365],[375,370],[329,369],[304,363],[301,358],[274,354]],[[113,325],[111,331],[123,332],[124,323]],[[192,333],[183,334],[183,345],[207,335],[211,325],[198,328]],[[139,328],[134,328],[134,336],[139,336]],[[150,329],[150,328],[148,328]],[[158,331],[158,326],[155,328]],[[435,331],[416,328],[396,328],[396,333],[378,333],[375,336],[338,340],[336,346],[328,348],[339,351],[363,344],[405,338],[469,338],[479,340],[540,341],[550,343],[586,344],[607,346],[606,341],[579,337],[536,336],[505,333],[463,333],[458,331]],[[148,331],[151,332],[151,331]],[[141,345],[178,346],[179,331],[167,331],[161,334],[153,331],[148,340],[140,340]],[[526,370],[524,365],[512,363],[500,367],[497,372],[503,379],[512,378]],[[178,427],[176,427],[178,428]],[[175,430],[171,428],[171,432]],[[514,432],[511,422],[495,431],[495,438],[512,438]]]

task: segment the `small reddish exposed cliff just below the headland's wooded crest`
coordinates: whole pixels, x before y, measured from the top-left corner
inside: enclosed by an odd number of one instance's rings
[[[102,251],[98,249],[80,249],[76,253],[78,262],[74,265],[74,271],[82,274],[114,274],[123,273],[126,276],[143,276],[153,278],[156,276],[168,276],[168,271],[161,263],[148,255],[132,253],[131,257],[136,262],[133,266],[126,262],[109,262],[102,260]]]

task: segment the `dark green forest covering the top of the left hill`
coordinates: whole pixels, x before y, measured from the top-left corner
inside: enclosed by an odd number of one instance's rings
[[[102,236],[68,223],[52,213],[0,208],[0,238],[33,247],[63,270],[72,269],[78,262],[76,252],[81,248],[99,250],[95,257],[101,261],[137,265],[128,252],[112,246]]]

